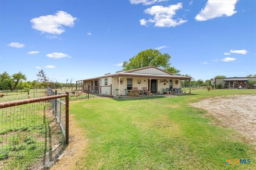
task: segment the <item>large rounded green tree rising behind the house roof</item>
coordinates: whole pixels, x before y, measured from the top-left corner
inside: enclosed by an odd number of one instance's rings
[[[123,70],[132,70],[146,66],[156,66],[162,68],[172,74],[180,72],[169,63],[171,56],[167,53],[160,53],[158,50],[147,49],[138,53],[128,61],[123,62]]]

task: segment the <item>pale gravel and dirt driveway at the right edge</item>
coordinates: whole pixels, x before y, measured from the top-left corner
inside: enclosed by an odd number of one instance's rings
[[[256,145],[256,95],[207,98],[192,106],[207,110],[221,125],[237,130]]]

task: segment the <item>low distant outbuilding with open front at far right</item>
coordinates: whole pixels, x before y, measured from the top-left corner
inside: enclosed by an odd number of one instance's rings
[[[229,77],[229,78],[212,78],[211,84],[216,86],[222,84],[222,88],[248,88],[248,81],[256,81],[256,77]]]

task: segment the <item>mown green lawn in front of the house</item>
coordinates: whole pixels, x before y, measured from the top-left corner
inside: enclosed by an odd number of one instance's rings
[[[256,169],[255,146],[191,107],[202,98],[256,90],[193,90],[175,98],[95,98],[70,102],[88,145],[74,169]],[[222,164],[223,159],[250,164]]]

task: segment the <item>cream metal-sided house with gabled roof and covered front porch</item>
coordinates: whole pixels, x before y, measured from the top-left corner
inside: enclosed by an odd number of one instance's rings
[[[105,95],[126,95],[126,92],[138,88],[142,90],[147,87],[152,93],[161,93],[162,89],[180,88],[180,80],[191,80],[191,77],[176,76],[156,66],[147,66],[128,71],[118,71],[114,74],[105,74],[104,76],[89,78],[76,81],[80,84],[77,90],[86,90],[89,86],[99,86],[100,92]],[[110,90],[104,90],[104,86],[111,86]],[[108,88],[109,89],[109,88]]]

